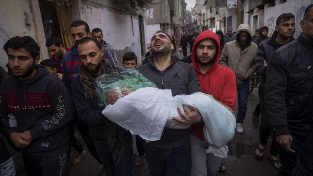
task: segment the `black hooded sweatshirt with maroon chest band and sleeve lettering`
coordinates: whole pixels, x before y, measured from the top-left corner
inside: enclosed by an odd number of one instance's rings
[[[71,100],[64,84],[42,65],[30,80],[13,74],[1,83],[1,116],[5,131],[29,130],[32,141],[22,153],[57,156],[69,150],[68,123],[72,120]]]

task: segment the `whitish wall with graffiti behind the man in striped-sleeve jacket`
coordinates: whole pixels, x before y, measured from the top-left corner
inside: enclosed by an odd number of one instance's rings
[[[285,3],[279,3],[279,0],[275,1],[275,6],[268,7],[268,4],[264,5],[264,25],[269,28],[269,37],[275,31],[276,19],[282,13],[292,13],[295,15],[295,0],[287,0]],[[300,21],[299,21],[300,23]],[[300,25],[298,22],[295,23],[296,27]],[[294,37],[297,37],[294,35]]]

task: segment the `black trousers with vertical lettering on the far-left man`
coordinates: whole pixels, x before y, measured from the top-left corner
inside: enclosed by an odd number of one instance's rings
[[[35,156],[22,153],[28,176],[69,176],[68,152],[57,156]]]

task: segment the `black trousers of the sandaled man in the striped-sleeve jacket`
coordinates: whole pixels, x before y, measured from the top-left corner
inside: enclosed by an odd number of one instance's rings
[[[266,145],[267,141],[269,140],[269,135],[271,133],[271,123],[269,119],[269,114],[267,113],[267,106],[268,104],[265,101],[264,98],[264,92],[259,91],[259,98],[260,98],[260,110],[261,110],[261,123],[259,126],[259,138],[260,143],[262,145]],[[273,141],[271,143],[271,148],[269,150],[269,153],[273,156],[278,155],[278,149],[275,144],[275,137],[273,137]]]

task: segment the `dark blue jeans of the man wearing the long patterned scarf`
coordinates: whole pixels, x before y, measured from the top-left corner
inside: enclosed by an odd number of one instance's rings
[[[126,132],[126,130],[125,130]],[[99,155],[103,167],[105,168],[107,176],[130,176],[131,175],[131,160],[133,156],[133,141],[131,135],[124,135],[125,147],[124,156],[120,163],[117,164],[116,168],[112,162],[109,154],[109,144],[94,142],[96,151]]]

